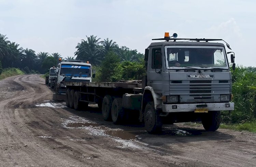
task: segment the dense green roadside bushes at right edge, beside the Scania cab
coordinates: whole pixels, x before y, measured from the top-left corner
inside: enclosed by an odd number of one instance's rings
[[[223,116],[225,123],[244,123],[256,117],[256,68],[236,67],[232,72],[234,111]]]

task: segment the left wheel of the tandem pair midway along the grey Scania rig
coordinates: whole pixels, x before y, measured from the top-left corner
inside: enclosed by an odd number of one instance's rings
[[[102,107],[101,107],[102,116],[105,121],[111,121],[111,119],[112,119],[111,118],[111,106],[112,106],[112,98],[110,95],[106,95],[103,98]]]

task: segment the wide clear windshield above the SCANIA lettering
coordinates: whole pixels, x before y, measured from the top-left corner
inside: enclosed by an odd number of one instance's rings
[[[224,47],[166,46],[165,53],[167,69],[179,67],[228,69]]]

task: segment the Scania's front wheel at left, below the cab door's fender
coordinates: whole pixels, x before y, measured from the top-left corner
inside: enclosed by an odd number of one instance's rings
[[[162,121],[155,110],[154,102],[148,102],[144,111],[145,128],[148,133],[159,133],[162,129]]]

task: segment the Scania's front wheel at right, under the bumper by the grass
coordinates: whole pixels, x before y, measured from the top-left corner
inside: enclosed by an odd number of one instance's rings
[[[209,111],[202,117],[203,128],[206,131],[216,131],[221,124],[221,112],[220,111]]]

